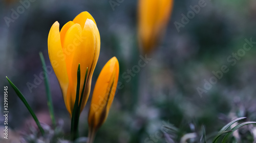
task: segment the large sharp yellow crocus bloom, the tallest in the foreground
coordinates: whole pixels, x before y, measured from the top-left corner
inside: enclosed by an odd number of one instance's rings
[[[78,64],[81,68],[79,99],[88,68],[82,111],[91,91],[92,76],[100,52],[100,35],[92,15],[88,12],[80,13],[73,21],[66,23],[60,32],[56,21],[49,32],[48,52],[70,115],[76,98]]]

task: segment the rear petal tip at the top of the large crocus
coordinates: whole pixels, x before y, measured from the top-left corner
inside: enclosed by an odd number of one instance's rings
[[[73,22],[74,23],[79,23],[81,25],[81,27],[83,28],[84,27],[84,23],[86,23],[87,19],[93,20],[93,22],[96,24],[96,22],[95,22],[94,18],[92,17],[92,15],[89,12],[87,12],[87,11],[84,11],[84,12],[81,12],[80,14],[78,14],[74,18]]]

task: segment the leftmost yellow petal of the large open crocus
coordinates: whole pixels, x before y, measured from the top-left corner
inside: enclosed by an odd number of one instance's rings
[[[56,77],[59,81],[63,98],[66,103],[69,78],[68,78],[66,62],[63,55],[63,51],[62,51],[61,42],[60,42],[59,23],[57,21],[52,25],[51,30],[49,32],[48,52],[49,52],[50,62],[52,64]]]

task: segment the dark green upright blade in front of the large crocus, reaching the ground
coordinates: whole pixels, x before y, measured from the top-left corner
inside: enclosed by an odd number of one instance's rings
[[[72,140],[74,141],[78,137],[78,114],[80,114],[78,111],[78,101],[79,101],[79,90],[80,90],[80,64],[78,65],[77,69],[77,87],[76,87],[76,100],[72,112],[72,119],[71,119],[71,135]]]

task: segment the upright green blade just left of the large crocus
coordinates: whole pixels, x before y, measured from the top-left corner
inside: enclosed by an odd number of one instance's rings
[[[47,105],[49,108],[52,125],[53,125],[53,127],[55,127],[56,121],[54,118],[54,109],[53,109],[52,96],[51,96],[51,92],[50,92],[50,86],[49,86],[48,75],[47,75],[47,70],[46,70],[46,62],[45,62],[44,56],[42,55],[42,52],[39,52],[39,55],[40,55],[40,59],[41,59],[41,63],[42,63],[42,69],[44,70],[45,75],[46,75],[44,80],[45,80],[46,95],[47,95]]]

